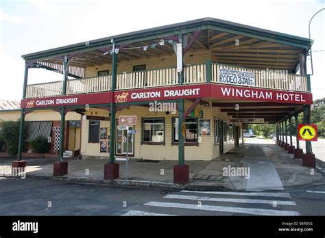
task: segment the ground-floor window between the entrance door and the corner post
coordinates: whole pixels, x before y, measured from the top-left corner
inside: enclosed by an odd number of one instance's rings
[[[143,119],[143,142],[165,142],[165,118]]]

